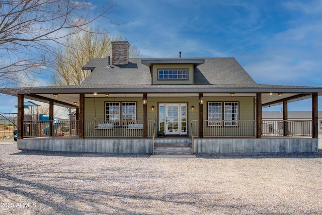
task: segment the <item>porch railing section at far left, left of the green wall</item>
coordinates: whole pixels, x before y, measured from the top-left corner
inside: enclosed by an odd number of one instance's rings
[[[24,121],[24,137],[77,136],[78,121]]]

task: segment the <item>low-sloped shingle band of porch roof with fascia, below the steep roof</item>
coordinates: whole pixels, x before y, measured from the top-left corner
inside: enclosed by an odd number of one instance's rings
[[[210,84],[210,85],[148,85],[148,84],[81,84],[32,88],[4,88],[1,93],[68,94],[68,93],[322,93],[322,87],[264,85],[264,84]]]

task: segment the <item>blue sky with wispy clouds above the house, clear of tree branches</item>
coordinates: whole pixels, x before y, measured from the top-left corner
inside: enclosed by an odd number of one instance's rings
[[[257,83],[322,86],[321,0],[119,0],[108,16],[118,25],[96,25],[122,34],[142,57],[235,57]],[[15,112],[15,97],[0,99],[0,112]],[[311,110],[311,101],[288,110]]]

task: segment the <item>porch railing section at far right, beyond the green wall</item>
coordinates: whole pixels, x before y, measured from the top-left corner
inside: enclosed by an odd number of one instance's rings
[[[312,120],[263,120],[263,136],[312,136]]]

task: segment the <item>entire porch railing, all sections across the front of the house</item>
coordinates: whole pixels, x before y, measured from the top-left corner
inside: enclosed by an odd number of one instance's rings
[[[147,136],[152,137],[155,121],[147,121]],[[24,121],[24,137],[77,136],[78,121]],[[85,121],[86,137],[142,137],[143,121]],[[198,120],[191,121],[194,137],[199,136]],[[256,136],[255,120],[203,121],[204,137]],[[262,136],[312,136],[312,120],[263,120]]]

